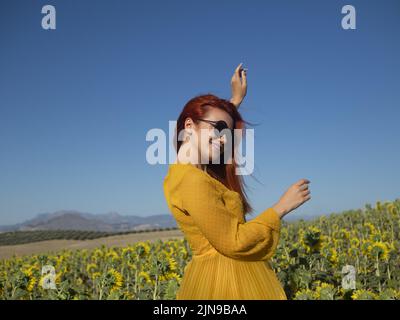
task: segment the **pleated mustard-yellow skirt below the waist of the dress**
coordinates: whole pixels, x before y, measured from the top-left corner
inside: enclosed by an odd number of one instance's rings
[[[286,300],[268,261],[242,261],[220,253],[193,256],[177,300]]]

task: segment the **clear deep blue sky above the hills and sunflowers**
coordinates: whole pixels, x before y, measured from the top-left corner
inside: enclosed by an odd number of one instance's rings
[[[41,8],[57,29],[41,28]],[[357,29],[341,28],[341,8]],[[230,97],[255,128],[256,213],[301,178],[297,217],[400,196],[400,2],[0,2],[0,224],[79,210],[169,213],[167,165],[147,164],[201,93]]]

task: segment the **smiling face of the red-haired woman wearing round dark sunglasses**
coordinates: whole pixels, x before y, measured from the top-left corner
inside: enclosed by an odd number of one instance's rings
[[[234,129],[234,121],[231,116],[226,111],[218,108],[211,108],[202,119],[210,121],[223,120],[228,125],[228,129]],[[220,135],[213,124],[206,121],[198,121],[196,124],[191,118],[187,118],[185,129],[194,130],[190,141],[192,147],[198,150],[199,162],[201,163],[204,163],[204,161],[207,161],[207,163],[219,163],[221,154],[224,152],[224,144],[232,141],[232,139],[227,136],[227,134],[229,135],[228,132],[223,132],[223,134]],[[229,150],[229,148],[226,149],[226,151]],[[201,159],[204,159],[204,161],[202,162]],[[223,161],[223,159],[221,161]]]

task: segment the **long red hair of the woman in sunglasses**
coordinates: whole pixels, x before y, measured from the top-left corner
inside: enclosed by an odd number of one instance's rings
[[[213,94],[198,95],[186,103],[178,117],[174,136],[174,146],[177,150],[177,153],[179,152],[179,149],[183,143],[183,141],[178,141],[177,132],[179,133],[185,129],[185,119],[191,118],[195,123],[197,123],[197,119],[203,118],[210,108],[218,108],[226,111],[233,119],[234,129],[244,129],[245,123],[250,124],[249,122],[243,120],[242,116],[237,110],[237,107],[232,102],[218,98]],[[242,131],[242,135],[243,133],[244,130]],[[244,190],[246,184],[242,176],[236,174],[237,164],[235,162],[234,152],[235,148],[232,148],[233,154],[231,163],[224,163],[223,161],[220,161],[218,164],[207,164],[207,172],[213,178],[224,184],[228,189],[239,193],[242,199],[244,213],[248,214],[253,211],[253,208],[250,205],[247,199],[247,194]]]

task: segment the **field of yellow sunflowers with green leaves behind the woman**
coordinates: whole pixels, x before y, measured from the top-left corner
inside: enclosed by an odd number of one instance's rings
[[[271,265],[288,299],[400,299],[399,212],[396,199],[283,222]],[[0,299],[175,299],[190,259],[186,239],[14,257]]]

